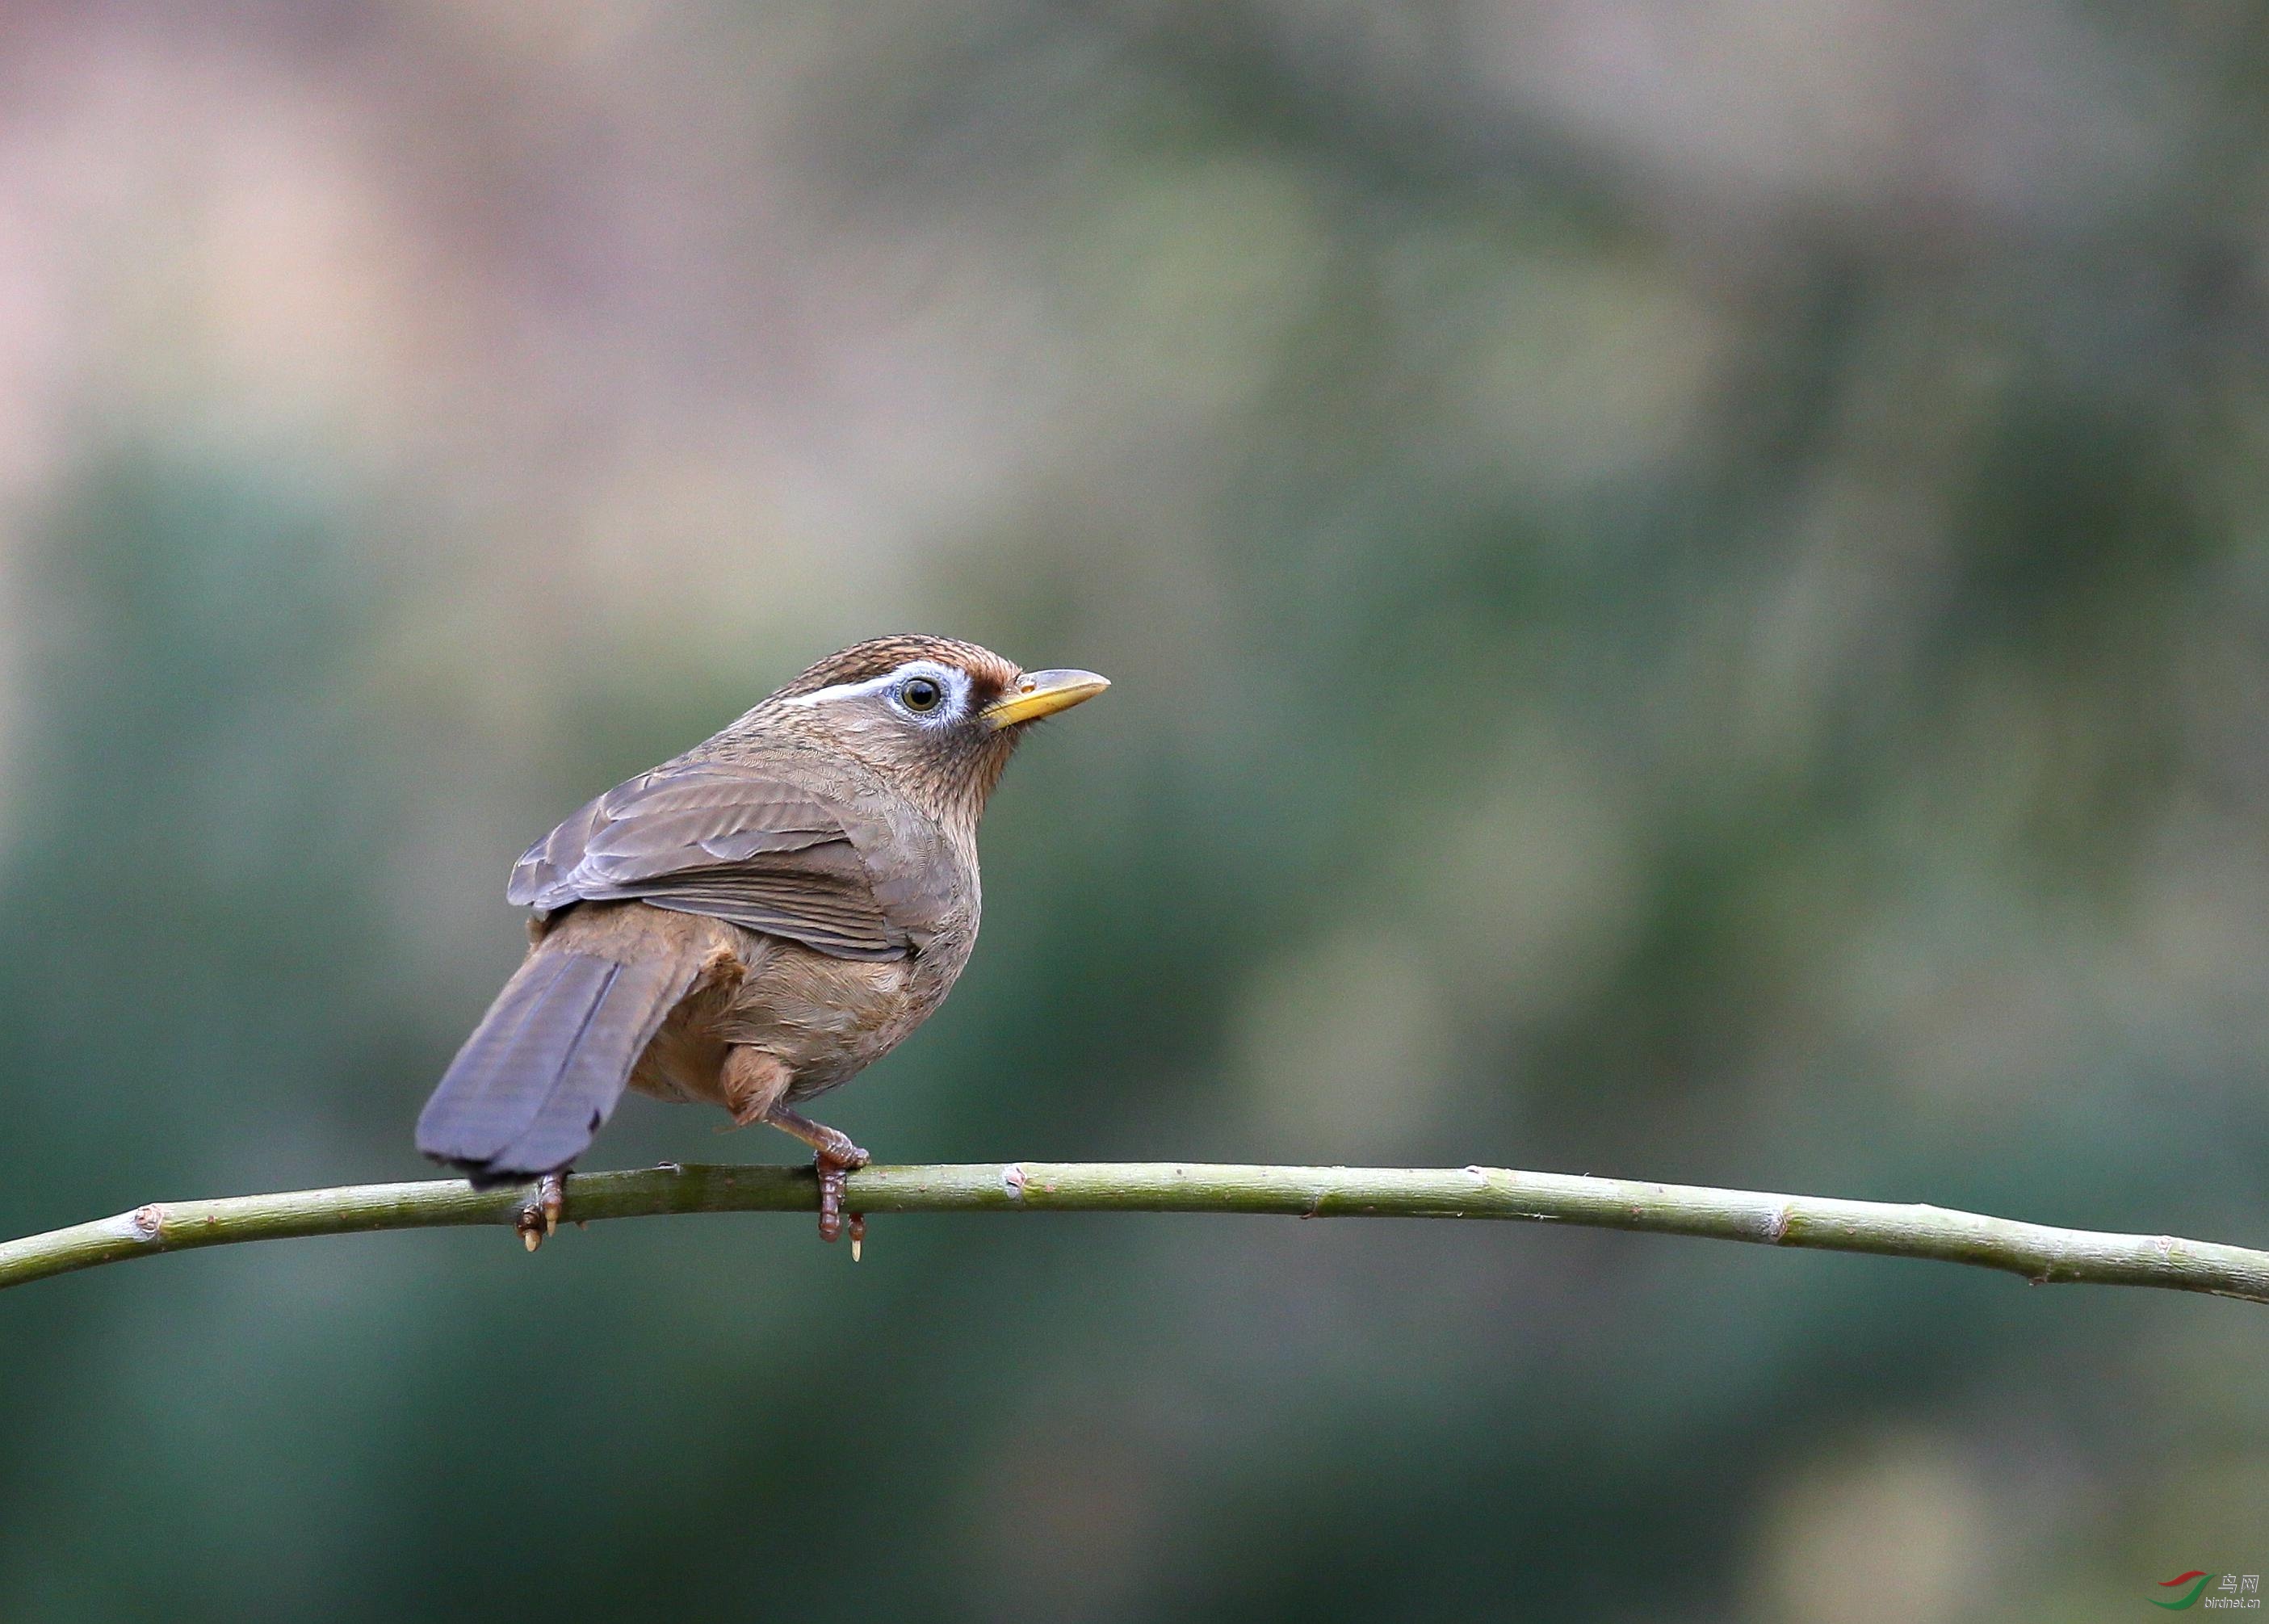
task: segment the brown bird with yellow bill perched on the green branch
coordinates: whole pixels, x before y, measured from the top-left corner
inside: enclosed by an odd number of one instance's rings
[[[794,1107],[953,989],[987,796],[1032,721],[1105,687],[971,642],[876,637],[608,789],[513,869],[529,957],[433,1089],[417,1148],[479,1186],[540,1177],[533,1250],[626,1086],[722,1105],[812,1148],[833,1241],[867,1152]]]

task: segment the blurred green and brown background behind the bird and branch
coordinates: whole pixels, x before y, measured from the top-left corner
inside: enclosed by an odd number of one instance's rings
[[[0,1234],[415,1177],[520,848],[1087,665],[883,1159],[2269,1243],[2255,7],[14,5]],[[592,1166],[787,1161],[633,1098]],[[0,1297],[0,1619],[2128,1619],[2269,1320],[1488,1225]]]

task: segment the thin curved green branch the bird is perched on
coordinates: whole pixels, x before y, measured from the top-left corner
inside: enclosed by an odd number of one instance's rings
[[[118,1218],[0,1243],[0,1288],[129,1257],[431,1225],[522,1225],[529,1186],[456,1179],[154,1202]],[[660,1166],[567,1179],[570,1220],[701,1211],[812,1211],[810,1168]],[[1827,1252],[1974,1263],[2035,1286],[2165,1286],[2269,1302],[2269,1252],[2176,1236],[2101,1234],[1824,1195],[1763,1195],[1507,1168],[1275,1168],[1207,1161],[871,1166],[844,1207],[914,1211],[1175,1211],[1298,1218],[1525,1218]]]

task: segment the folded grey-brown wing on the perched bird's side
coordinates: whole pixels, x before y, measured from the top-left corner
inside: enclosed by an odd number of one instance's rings
[[[760,767],[658,767],[529,846],[506,894],[542,912],[640,898],[835,957],[899,959],[917,921],[876,896],[860,855],[874,823],[855,796]]]

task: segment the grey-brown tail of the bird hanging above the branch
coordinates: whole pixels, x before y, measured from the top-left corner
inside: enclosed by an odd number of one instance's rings
[[[590,1148],[697,975],[692,957],[531,953],[417,1116],[417,1148],[476,1184],[558,1173]]]

